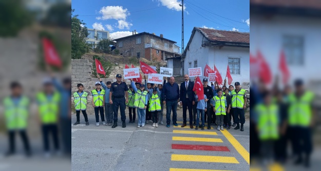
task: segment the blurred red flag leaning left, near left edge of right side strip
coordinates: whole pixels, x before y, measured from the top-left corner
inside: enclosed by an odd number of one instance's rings
[[[261,81],[265,84],[269,84],[272,81],[272,74],[269,67],[269,64],[264,59],[260,50],[256,53],[257,63],[259,66],[259,77]]]

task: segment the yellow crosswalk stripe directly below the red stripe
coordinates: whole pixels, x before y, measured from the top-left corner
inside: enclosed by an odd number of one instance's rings
[[[235,157],[200,156],[200,155],[172,155],[172,161],[194,161],[212,163],[239,163]]]

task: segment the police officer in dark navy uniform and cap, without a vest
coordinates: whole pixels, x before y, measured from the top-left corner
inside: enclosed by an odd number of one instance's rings
[[[125,108],[126,103],[128,103],[128,87],[125,82],[122,82],[122,75],[116,75],[116,82],[111,84],[109,92],[109,103],[114,104],[114,125],[112,128],[117,126],[118,121],[118,109],[120,108],[121,121],[123,123],[123,128],[126,127],[126,116]],[[126,99],[125,99],[126,96]]]

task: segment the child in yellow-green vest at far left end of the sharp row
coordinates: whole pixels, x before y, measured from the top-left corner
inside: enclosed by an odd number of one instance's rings
[[[73,125],[80,124],[80,110],[82,111],[86,125],[89,125],[88,117],[86,113],[87,108],[87,96],[88,93],[86,91],[83,91],[84,85],[83,84],[77,84],[78,91],[73,93],[73,102],[74,102],[74,108],[76,109],[76,117],[77,121]]]

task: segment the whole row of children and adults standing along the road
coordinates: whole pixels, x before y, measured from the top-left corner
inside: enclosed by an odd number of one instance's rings
[[[183,107],[183,124],[187,126],[187,109],[189,114],[190,128],[201,128],[204,130],[207,119],[207,129],[211,125],[217,126],[217,130],[224,130],[224,127],[231,129],[244,130],[245,122],[244,109],[247,104],[246,90],[240,88],[240,83],[226,87],[226,80],[222,88],[215,82],[208,86],[207,79],[203,79],[204,98],[197,97],[196,91],[193,91],[194,82],[190,81],[187,74],[184,75],[184,82],[180,88],[175,83],[175,78],[170,77],[163,84],[146,83],[130,81],[127,87],[122,75],[117,74],[117,81],[114,83],[102,81],[97,75],[99,81],[96,82],[96,89],[91,91],[92,106],[95,108],[96,126],[99,126],[99,113],[103,125],[117,127],[118,110],[120,109],[122,127],[126,127],[125,108],[128,107],[129,122],[136,123],[136,109],[138,122],[137,127],[144,127],[146,123],[153,123],[153,127],[158,127],[163,123],[163,108],[166,105],[166,127],[171,125],[171,113],[173,125],[177,124],[177,106]],[[195,80],[194,80],[195,81]],[[77,122],[80,124],[80,111],[82,111],[86,125],[89,125],[86,114],[86,103],[88,93],[83,91],[83,85],[78,84],[78,91],[73,93],[75,109],[77,113]],[[105,107],[105,113],[104,113]],[[232,116],[232,117],[231,117]],[[106,121],[105,121],[106,118]],[[233,118],[233,125],[231,124]],[[201,124],[199,123],[201,120]],[[240,124],[241,123],[241,124]]]

